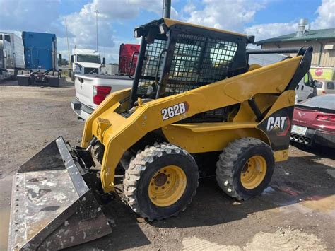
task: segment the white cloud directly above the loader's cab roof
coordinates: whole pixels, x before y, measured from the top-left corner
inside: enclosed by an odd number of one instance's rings
[[[184,7],[183,14],[189,23],[242,31],[245,24],[251,22],[257,11],[264,8],[265,4],[266,1],[262,0],[252,2],[247,0],[203,0],[200,6],[189,2]]]

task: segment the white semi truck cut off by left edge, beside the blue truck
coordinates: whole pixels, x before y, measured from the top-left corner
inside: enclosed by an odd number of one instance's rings
[[[0,32],[0,80],[16,79],[25,69],[22,38],[15,33]]]

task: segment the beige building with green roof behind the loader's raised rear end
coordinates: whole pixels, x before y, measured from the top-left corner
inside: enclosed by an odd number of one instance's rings
[[[307,21],[302,19],[295,33],[255,43],[262,49],[312,46],[312,66],[335,67],[335,28],[308,30],[306,24]]]

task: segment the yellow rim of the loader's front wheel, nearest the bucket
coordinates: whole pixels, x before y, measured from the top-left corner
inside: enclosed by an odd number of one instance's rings
[[[167,165],[151,178],[149,198],[156,206],[171,206],[182,197],[186,184],[187,178],[182,168],[177,165]]]

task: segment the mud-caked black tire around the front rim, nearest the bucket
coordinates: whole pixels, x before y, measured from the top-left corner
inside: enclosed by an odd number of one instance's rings
[[[170,206],[160,207],[151,202],[148,196],[148,186],[151,178],[160,168],[167,165],[177,165],[182,168],[187,185],[182,197]],[[196,194],[199,185],[199,171],[194,158],[182,148],[162,143],[155,146],[146,146],[130,161],[124,177],[124,194],[131,209],[149,221],[162,220],[177,216],[184,211]]]

